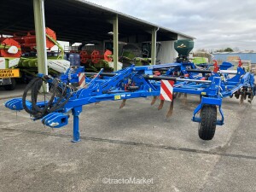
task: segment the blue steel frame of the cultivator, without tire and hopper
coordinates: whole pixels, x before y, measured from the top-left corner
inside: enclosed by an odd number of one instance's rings
[[[160,76],[163,79],[172,77],[173,73],[188,74],[183,79],[173,79],[176,81],[173,91],[201,96],[201,103],[195,108],[193,113],[192,120],[195,122],[201,122],[201,118],[195,115],[201,110],[203,105],[207,104],[218,106],[221,119],[217,120],[217,125],[224,125],[224,113],[221,108],[222,98],[231,96],[243,87],[253,88],[254,83],[253,74],[245,73],[241,67],[237,68],[236,76],[233,78],[229,78],[228,75],[223,76],[219,73],[211,73],[211,77],[208,81],[200,80],[201,77],[199,73],[189,73],[187,71],[188,68],[195,69],[194,63],[187,62],[143,67],[135,67],[132,65],[131,67],[113,73],[112,77],[103,76],[103,70],[101,70],[96,74],[94,79],[85,78],[86,87],[74,91],[69,89],[68,84],[79,82],[79,73],[84,73],[84,67],[78,67],[76,69],[69,69],[67,73],[62,74],[59,79],[59,86],[67,86],[68,94],[72,95],[67,104],[58,111],[45,115],[41,121],[44,125],[49,127],[60,128],[68,124],[68,112],[72,111],[73,142],[79,142],[79,113],[82,112],[84,105],[102,101],[160,96],[160,81],[154,79],[153,70],[161,68],[167,68],[166,74]],[[228,67],[223,68],[227,69]],[[145,78],[145,75],[148,76],[148,79]],[[43,77],[44,74],[38,74],[38,76]],[[200,81],[194,82],[193,80],[195,79]],[[48,79],[48,82],[50,83],[53,80],[54,79]],[[137,87],[137,89],[126,90],[125,87],[127,85],[132,85]],[[37,103],[40,108],[44,108],[45,104],[45,102]],[[26,106],[27,108],[32,108],[32,103],[26,101]],[[20,98],[12,99],[5,103],[5,107],[20,111],[23,109],[22,100]]]

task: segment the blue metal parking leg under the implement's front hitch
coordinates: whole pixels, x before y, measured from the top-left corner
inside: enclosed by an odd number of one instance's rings
[[[80,141],[80,132],[79,132],[79,114],[82,112],[82,107],[73,108],[73,143]]]

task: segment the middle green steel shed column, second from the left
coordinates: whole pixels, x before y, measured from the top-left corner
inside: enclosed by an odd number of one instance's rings
[[[113,71],[117,71],[119,61],[119,16],[113,18]]]

